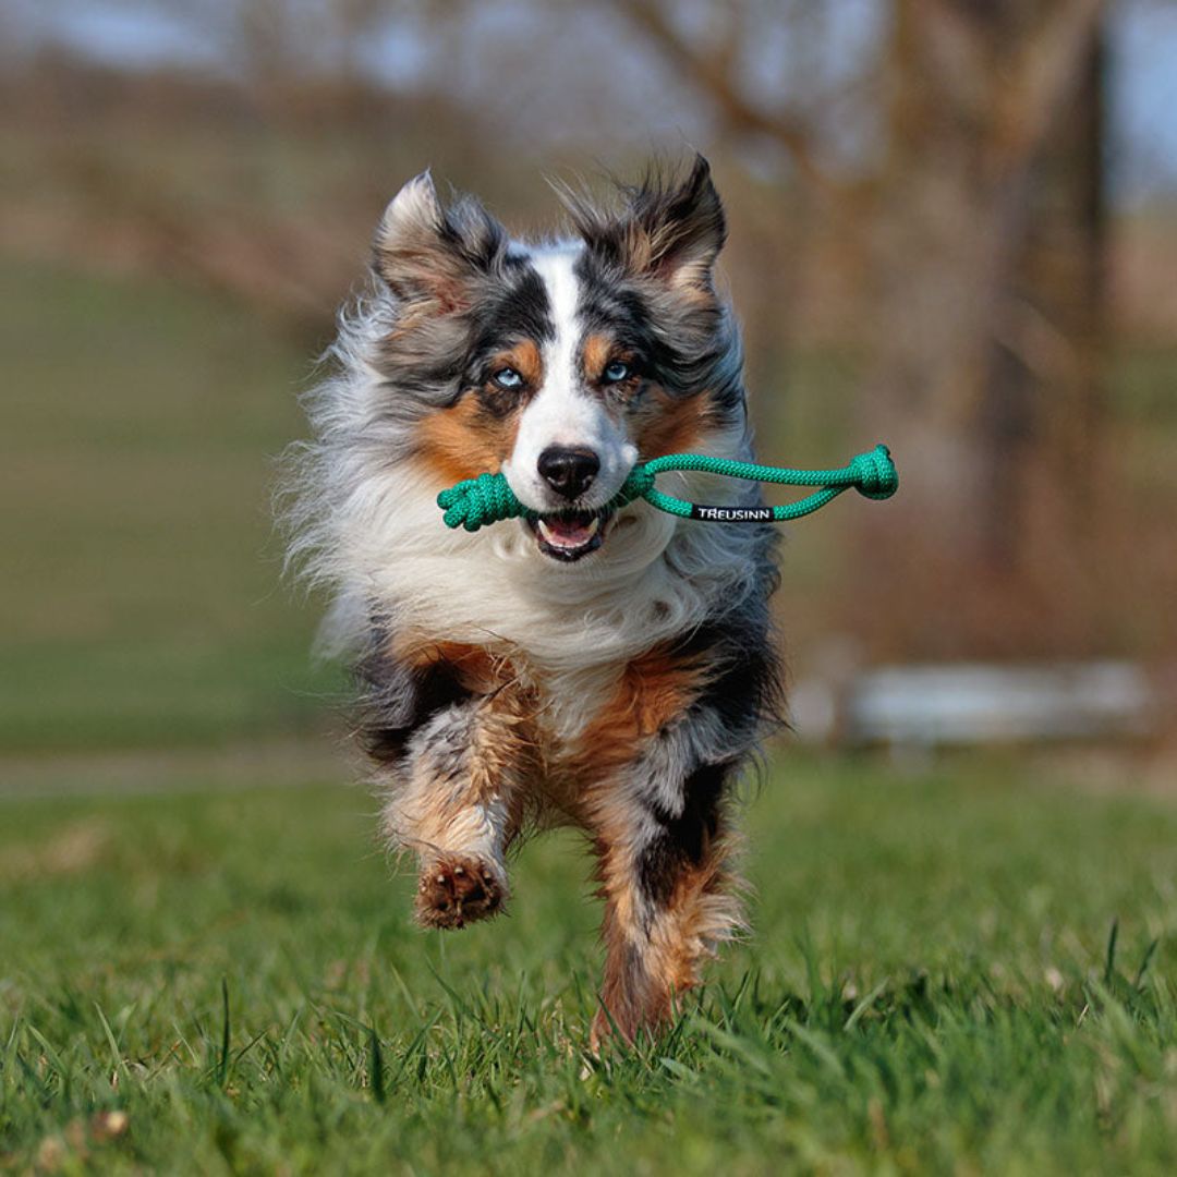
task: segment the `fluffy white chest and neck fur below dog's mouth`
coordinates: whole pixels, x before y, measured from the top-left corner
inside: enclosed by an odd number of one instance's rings
[[[351,496],[335,546],[346,596],[395,629],[518,651],[545,677],[624,665],[698,625],[749,574],[739,528],[683,525],[636,503],[599,552],[565,565],[521,523],[448,531],[428,485],[405,463]]]

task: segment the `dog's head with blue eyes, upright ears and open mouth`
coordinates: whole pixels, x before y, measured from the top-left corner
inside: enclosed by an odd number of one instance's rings
[[[380,346],[394,411],[438,487],[501,471],[541,552],[607,540],[639,459],[704,448],[743,420],[738,337],[716,294],[724,214],[699,157],[603,211],[563,193],[573,233],[511,240],[470,198],[411,180],[377,231],[397,300]]]

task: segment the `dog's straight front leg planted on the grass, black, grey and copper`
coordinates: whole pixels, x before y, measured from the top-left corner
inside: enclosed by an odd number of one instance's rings
[[[776,691],[771,653],[703,627],[632,661],[586,732],[592,833],[605,900],[605,978],[593,1042],[665,1022],[677,995],[742,926],[729,858],[731,780]]]

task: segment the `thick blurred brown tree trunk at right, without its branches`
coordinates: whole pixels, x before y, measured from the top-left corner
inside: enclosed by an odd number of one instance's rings
[[[1022,584],[1025,473],[1051,450],[1090,457],[1097,403],[1097,9],[897,0],[895,15],[863,440],[890,440],[904,485],[870,520],[875,599],[907,652],[1024,651],[1049,640]]]

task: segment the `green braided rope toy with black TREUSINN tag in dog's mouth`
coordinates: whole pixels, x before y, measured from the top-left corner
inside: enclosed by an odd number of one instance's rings
[[[820,490],[797,503],[780,507],[710,507],[687,503],[664,494],[654,487],[654,478],[667,470],[698,470],[725,478],[745,478],[753,483],[779,483],[786,486],[817,486]],[[856,454],[840,470],[789,470],[784,466],[757,466],[750,461],[727,458],[707,458],[698,453],[667,453],[651,461],[638,463],[630,471],[621,488],[606,504],[607,510],[624,507],[634,499],[645,499],[651,506],[683,519],[705,519],[712,523],[786,523],[800,519],[818,507],[824,507],[843,491],[853,487],[869,499],[886,499],[899,486],[899,474],[891,460],[891,451],[877,445],[866,453]],[[438,496],[438,506],[445,512],[447,527],[478,531],[500,519],[538,519],[539,512],[525,507],[507,485],[503,474],[479,474],[451,486]]]

